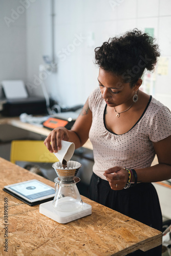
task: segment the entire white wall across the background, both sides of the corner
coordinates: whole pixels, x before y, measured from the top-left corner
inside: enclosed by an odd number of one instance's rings
[[[30,3],[8,28],[4,16],[21,2]],[[41,82],[60,104],[84,103],[97,86],[94,48],[127,30],[154,28],[166,58],[165,72],[144,76],[142,89],[171,109],[170,0],[55,0],[55,56],[57,73],[44,72]],[[51,0],[1,0],[0,80],[23,79],[31,95],[42,96],[39,65],[52,56]],[[149,77],[151,76],[151,77]]]

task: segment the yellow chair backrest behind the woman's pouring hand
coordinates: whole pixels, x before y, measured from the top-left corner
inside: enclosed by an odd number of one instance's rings
[[[58,159],[50,153],[42,140],[13,140],[10,161],[54,163]]]

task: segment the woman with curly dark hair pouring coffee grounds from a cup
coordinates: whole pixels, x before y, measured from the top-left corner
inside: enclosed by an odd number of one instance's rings
[[[137,29],[95,49],[99,87],[92,92],[71,131],[54,129],[45,140],[50,152],[61,140],[93,144],[90,199],[162,230],[162,215],[151,182],[171,178],[171,114],[140,91],[144,70],[160,56],[154,39]],[[157,155],[159,164],[151,166]],[[133,255],[161,255],[161,246]]]

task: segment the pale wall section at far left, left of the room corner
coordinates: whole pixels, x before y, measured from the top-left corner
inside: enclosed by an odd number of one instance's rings
[[[0,1],[0,82],[26,80],[26,11],[19,0]],[[17,13],[19,11],[19,13]]]

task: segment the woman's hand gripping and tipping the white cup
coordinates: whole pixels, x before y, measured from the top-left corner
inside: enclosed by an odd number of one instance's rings
[[[50,153],[57,153],[61,149],[61,140],[69,140],[68,130],[62,126],[55,128],[45,139],[44,144]]]

